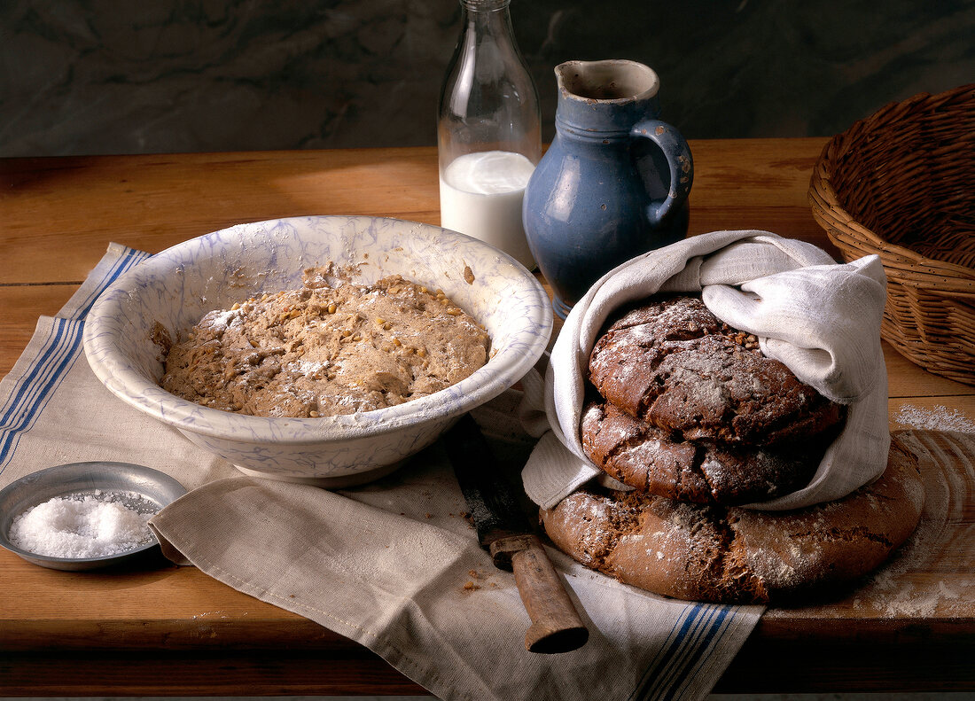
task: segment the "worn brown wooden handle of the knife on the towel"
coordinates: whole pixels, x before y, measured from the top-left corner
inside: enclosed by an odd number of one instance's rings
[[[490,544],[494,564],[515,572],[515,584],[531,625],[525,635],[529,652],[568,652],[589,640],[562,579],[537,535],[513,535]]]

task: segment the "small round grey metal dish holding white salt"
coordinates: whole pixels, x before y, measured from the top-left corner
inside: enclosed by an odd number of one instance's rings
[[[72,462],[50,467],[0,489],[0,546],[34,565],[68,571],[119,565],[159,548],[159,541],[153,536],[144,545],[103,558],[53,558],[21,550],[10,542],[14,520],[27,509],[55,497],[94,493],[97,489],[136,492],[144,501],[157,507],[157,511],[186,493],[186,489],[169,475],[128,462]]]

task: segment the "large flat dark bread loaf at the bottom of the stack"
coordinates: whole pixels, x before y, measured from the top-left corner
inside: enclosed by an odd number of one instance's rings
[[[767,604],[881,565],[914,531],[923,497],[916,460],[895,437],[876,482],[806,509],[759,512],[594,488],[541,519],[568,556],[626,584],[689,601]]]

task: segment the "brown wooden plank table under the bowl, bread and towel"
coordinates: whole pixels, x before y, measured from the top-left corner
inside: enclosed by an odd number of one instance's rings
[[[690,232],[767,229],[836,253],[806,203],[824,140],[692,141]],[[0,376],[109,242],[156,253],[299,214],[439,222],[433,148],[7,159],[0,185]],[[975,388],[885,357],[892,428],[902,406],[975,420]],[[769,609],[715,690],[975,689],[970,489],[956,513],[934,564],[897,574],[900,594]],[[0,696],[424,693],[357,643],[193,567],[70,573],[2,551],[0,589]]]

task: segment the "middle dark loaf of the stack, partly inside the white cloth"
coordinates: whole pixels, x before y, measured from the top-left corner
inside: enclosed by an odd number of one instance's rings
[[[673,440],[652,424],[594,402],[582,414],[582,448],[625,485],[696,504],[750,504],[805,486],[829,441],[762,448],[710,439]]]

